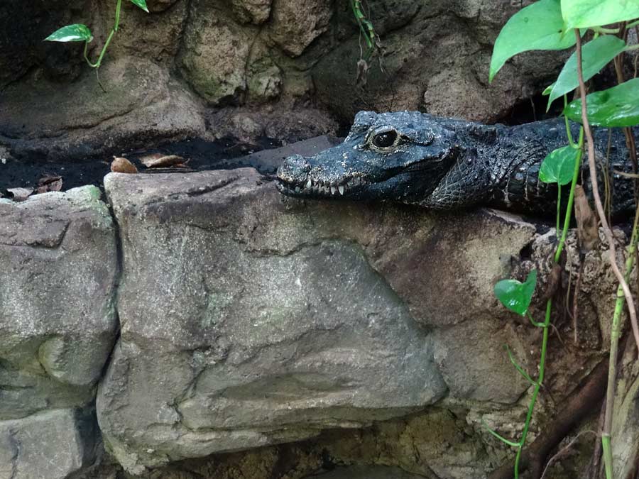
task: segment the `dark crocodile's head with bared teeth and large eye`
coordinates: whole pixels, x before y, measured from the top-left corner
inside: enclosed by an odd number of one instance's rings
[[[457,135],[442,119],[361,111],[341,145],[286,158],[278,189],[293,197],[416,202],[437,187],[458,156]]]

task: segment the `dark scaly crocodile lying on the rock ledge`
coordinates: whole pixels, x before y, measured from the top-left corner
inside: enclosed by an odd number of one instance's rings
[[[579,125],[570,128],[577,138]],[[600,165],[605,163],[609,172],[629,172],[623,133],[599,128],[594,134]],[[567,144],[564,119],[504,126],[417,111],[360,111],[344,143],[311,157],[285,158],[277,187],[288,196],[309,199],[381,200],[431,209],[485,205],[555,214],[557,185],[540,181],[540,165],[548,153]],[[585,163],[579,181],[591,194]],[[623,214],[634,207],[633,180],[617,173],[612,177],[613,214]]]

